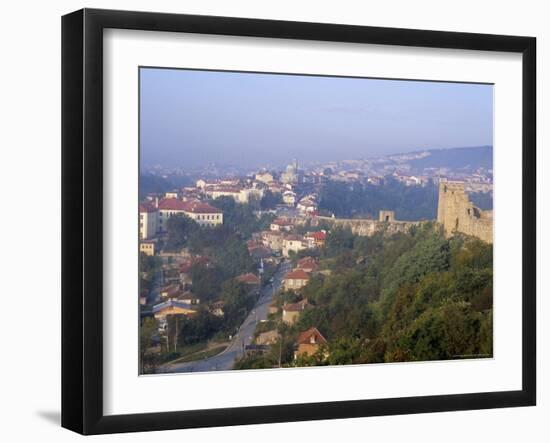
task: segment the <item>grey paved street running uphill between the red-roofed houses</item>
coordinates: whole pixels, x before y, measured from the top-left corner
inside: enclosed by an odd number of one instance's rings
[[[267,318],[268,308],[273,295],[279,290],[282,278],[290,269],[290,262],[283,263],[274,275],[273,288],[267,285],[263,288],[258,302],[240,326],[237,335],[227,349],[214,357],[186,363],[175,363],[164,366],[161,372],[203,372],[224,371],[233,368],[236,359],[242,357],[244,347],[252,342],[256,324]]]

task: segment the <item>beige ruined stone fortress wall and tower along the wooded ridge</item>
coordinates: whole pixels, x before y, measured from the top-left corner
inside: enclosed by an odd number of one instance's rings
[[[320,222],[332,226],[349,228],[356,235],[371,236],[384,230],[387,235],[408,232],[412,226],[426,221],[401,221],[395,219],[394,211],[380,211],[378,220],[364,218],[335,218],[316,216],[314,225]],[[477,237],[487,243],[493,243],[493,211],[482,211],[469,200],[462,182],[441,182],[437,205],[437,222],[443,226],[445,237],[455,232]]]

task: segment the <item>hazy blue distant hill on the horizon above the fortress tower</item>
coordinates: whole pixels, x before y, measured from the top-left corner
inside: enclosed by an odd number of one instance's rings
[[[477,169],[493,168],[493,147],[477,146],[470,148],[432,149],[425,151],[426,157],[410,160],[408,163],[414,169],[453,168]]]

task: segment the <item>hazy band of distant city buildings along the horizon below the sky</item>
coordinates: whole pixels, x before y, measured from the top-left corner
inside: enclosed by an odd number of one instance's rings
[[[163,167],[144,165],[142,174],[165,179],[183,178],[193,184],[202,180],[210,187],[218,189],[242,186],[246,188],[270,189],[282,192],[283,187],[320,185],[327,181],[344,183],[364,183],[379,185],[384,179],[392,177],[407,186],[439,183],[440,178],[464,181],[470,192],[492,192],[493,169],[492,147],[454,148],[446,150],[423,150],[405,154],[383,156],[371,159],[341,160],[327,163],[305,162],[298,164],[295,159],[286,168],[262,167],[256,170],[243,169],[238,165],[211,164],[203,168],[186,169],[184,167]],[[452,153],[453,155],[449,155]],[[474,153],[474,158],[472,154]],[[440,158],[442,157],[442,158]],[[430,162],[436,158],[434,162]],[[449,166],[448,163],[456,163]],[[440,164],[438,164],[440,163]],[[192,191],[193,186],[185,187]],[[246,191],[244,191],[246,193]],[[232,196],[232,195],[231,195]],[[243,198],[241,196],[241,202]]]

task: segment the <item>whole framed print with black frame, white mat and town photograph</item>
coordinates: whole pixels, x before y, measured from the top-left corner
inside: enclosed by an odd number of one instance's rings
[[[536,402],[531,37],[62,21],[62,425]]]

